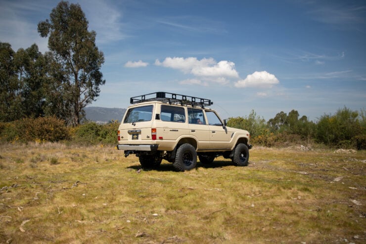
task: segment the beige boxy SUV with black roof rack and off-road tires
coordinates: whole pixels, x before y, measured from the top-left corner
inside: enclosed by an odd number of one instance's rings
[[[226,126],[213,102],[166,92],[130,99],[118,128],[119,150],[136,154],[144,168],[158,167],[165,159],[179,171],[209,164],[217,156],[231,158],[238,166],[248,164],[249,132]]]

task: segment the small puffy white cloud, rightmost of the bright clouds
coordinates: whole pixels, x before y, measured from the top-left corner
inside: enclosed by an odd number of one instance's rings
[[[251,75],[247,75],[244,80],[237,81],[235,87],[255,87],[255,88],[271,88],[278,84],[278,79],[267,71],[256,71]]]

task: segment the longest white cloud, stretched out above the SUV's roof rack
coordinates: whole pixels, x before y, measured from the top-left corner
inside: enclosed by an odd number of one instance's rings
[[[217,63],[213,58],[198,60],[196,57],[167,57],[163,62],[156,59],[155,65],[178,69],[199,77],[239,77],[233,62],[223,60]]]

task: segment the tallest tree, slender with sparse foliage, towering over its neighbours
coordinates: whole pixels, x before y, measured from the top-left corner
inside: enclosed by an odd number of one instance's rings
[[[66,103],[71,104],[71,123],[76,126],[83,108],[96,100],[99,86],[105,84],[100,72],[104,55],[95,46],[96,33],[88,31],[88,20],[79,4],[60,1],[49,17],[38,24],[38,32],[41,37],[49,36],[48,48],[60,69],[54,81],[69,95]]]

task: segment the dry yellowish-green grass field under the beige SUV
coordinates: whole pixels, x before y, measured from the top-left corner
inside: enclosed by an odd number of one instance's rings
[[[110,146],[1,145],[0,243],[366,243],[366,151],[333,151],[139,172]]]

